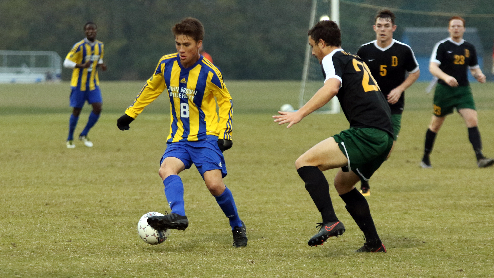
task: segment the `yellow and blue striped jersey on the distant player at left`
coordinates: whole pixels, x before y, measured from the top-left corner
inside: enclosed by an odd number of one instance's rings
[[[92,91],[99,85],[98,71],[96,70],[98,62],[103,59],[105,46],[102,42],[95,40],[93,43],[84,39],[72,47],[67,54],[69,59],[77,64],[91,61],[88,68],[74,68],[72,71],[72,80],[70,86],[80,91]]]

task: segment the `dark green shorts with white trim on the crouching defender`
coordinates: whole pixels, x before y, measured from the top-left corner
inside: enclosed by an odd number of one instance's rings
[[[350,128],[333,138],[348,159],[342,170],[353,171],[364,181],[386,160],[393,146],[393,138],[387,132],[373,128]]]

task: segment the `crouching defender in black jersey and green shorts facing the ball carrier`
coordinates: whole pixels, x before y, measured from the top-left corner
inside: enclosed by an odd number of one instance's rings
[[[308,244],[322,245],[329,237],[345,232],[345,226],[334,213],[328,181],[322,172],[341,168],[334,178],[334,187],[366,238],[357,252],[386,252],[369,204],[355,184],[370,179],[393,146],[391,110],[367,64],[359,56],[340,48],[341,33],[335,22],[320,21],[308,35],[312,54],[324,69],[324,86],[298,111],[279,111],[280,115],[273,118],[279,124],[288,123],[289,128],[336,95],[350,123],[348,130],[319,142],[295,162],[298,175],[323,218],[317,226],[319,232]]]

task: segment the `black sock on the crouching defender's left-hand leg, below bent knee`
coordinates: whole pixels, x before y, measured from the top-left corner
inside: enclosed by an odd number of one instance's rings
[[[323,223],[338,221],[329,196],[328,181],[323,172],[316,166],[303,166],[298,168],[297,172],[305,182],[305,189],[309,191],[317,209],[321,212]]]

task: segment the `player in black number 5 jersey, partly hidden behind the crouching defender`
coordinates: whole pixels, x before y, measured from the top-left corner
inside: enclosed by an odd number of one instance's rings
[[[401,129],[405,90],[412,86],[420,75],[412,48],[393,39],[393,32],[396,30],[395,18],[395,14],[390,10],[378,11],[373,26],[376,40],[360,46],[357,52],[369,66],[372,76],[388,101],[395,139],[393,147]],[[360,191],[364,196],[371,195],[369,181],[362,180]]]

